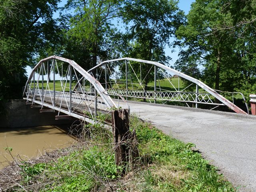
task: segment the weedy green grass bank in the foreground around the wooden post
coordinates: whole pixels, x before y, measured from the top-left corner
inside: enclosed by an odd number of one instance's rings
[[[10,191],[234,192],[201,154],[163,134],[154,126],[130,118],[136,130],[139,157],[135,164],[116,166],[112,134],[102,124],[84,127],[83,142],[48,162],[20,165],[19,185]],[[126,170],[126,174],[122,171]]]

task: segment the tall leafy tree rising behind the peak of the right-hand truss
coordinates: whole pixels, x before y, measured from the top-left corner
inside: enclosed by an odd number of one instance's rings
[[[153,60],[168,64],[170,57],[165,56],[164,48],[170,45],[174,34],[183,18],[174,0],[128,0],[122,11],[127,24],[126,37],[130,44],[124,56],[144,60]],[[154,70],[149,72],[148,65],[141,64],[144,90],[154,78]],[[134,66],[135,73],[140,75],[140,67]]]

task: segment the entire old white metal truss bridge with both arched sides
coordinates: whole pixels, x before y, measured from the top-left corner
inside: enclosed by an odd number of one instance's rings
[[[231,98],[225,98],[224,95]],[[73,60],[50,56],[33,68],[24,88],[24,100],[40,112],[58,111],[56,119],[78,118],[94,123],[98,114],[119,107],[119,99],[160,104],[183,104],[210,110],[226,106],[247,112],[234,104],[234,95],[213,90],[200,80],[158,62],[120,58],[101,62],[86,71]],[[117,100],[115,100],[115,99]],[[66,115],[60,115],[64,113]]]

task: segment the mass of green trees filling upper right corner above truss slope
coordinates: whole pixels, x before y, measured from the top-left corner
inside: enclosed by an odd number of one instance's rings
[[[254,77],[255,14],[250,14],[253,1],[192,3],[186,22],[176,31],[176,44],[181,47],[176,68],[196,78],[202,75],[217,90],[237,90],[246,79]]]

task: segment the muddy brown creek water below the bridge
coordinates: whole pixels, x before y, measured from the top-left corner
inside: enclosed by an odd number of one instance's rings
[[[68,135],[68,125],[0,128],[0,168],[13,157],[24,160],[46,151],[71,146],[76,138]],[[12,148],[11,154],[6,148]],[[13,157],[12,157],[13,156]]]

